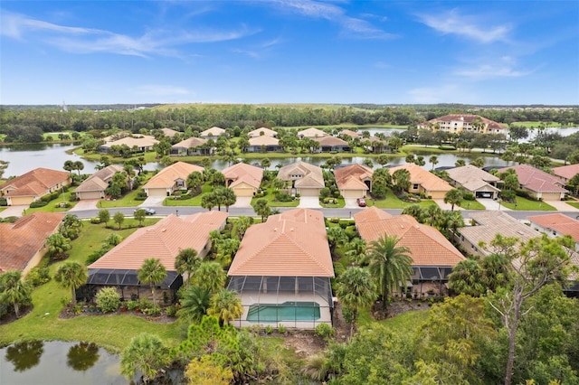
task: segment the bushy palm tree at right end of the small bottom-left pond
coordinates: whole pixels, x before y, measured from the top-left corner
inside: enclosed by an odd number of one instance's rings
[[[157,335],[141,333],[133,337],[123,350],[120,371],[129,379],[137,371],[143,374],[143,382],[155,380],[159,371],[169,364],[168,349]]]

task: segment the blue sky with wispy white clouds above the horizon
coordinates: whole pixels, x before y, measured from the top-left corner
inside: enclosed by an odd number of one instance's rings
[[[579,105],[579,2],[3,1],[0,104]]]

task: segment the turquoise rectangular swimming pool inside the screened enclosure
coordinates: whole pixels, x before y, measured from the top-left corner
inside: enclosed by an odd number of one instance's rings
[[[319,319],[317,302],[293,302],[283,304],[251,305],[247,314],[250,322],[316,321]]]

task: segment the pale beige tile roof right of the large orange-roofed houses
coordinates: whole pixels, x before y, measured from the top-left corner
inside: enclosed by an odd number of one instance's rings
[[[523,241],[538,236],[536,230],[532,230],[503,211],[471,212],[470,218],[478,224],[462,227],[458,231],[477,247],[480,241],[489,245],[497,234],[505,237],[517,237]],[[492,252],[489,246],[485,250],[487,254]]]

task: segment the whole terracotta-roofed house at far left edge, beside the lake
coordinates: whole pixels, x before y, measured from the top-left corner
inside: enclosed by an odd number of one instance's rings
[[[66,171],[40,167],[0,184],[0,195],[8,206],[28,205],[71,182],[71,174]]]

